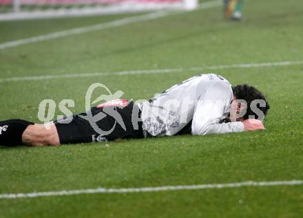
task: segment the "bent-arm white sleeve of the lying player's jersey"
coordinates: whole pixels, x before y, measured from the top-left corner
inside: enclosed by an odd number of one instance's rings
[[[220,123],[222,117],[229,113],[233,97],[228,83],[217,82],[200,96],[194,111],[191,124],[192,135],[222,134],[227,132],[243,132],[244,124],[240,121]]]

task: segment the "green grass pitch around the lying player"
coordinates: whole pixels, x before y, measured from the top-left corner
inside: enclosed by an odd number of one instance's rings
[[[0,44],[134,16],[0,22]],[[218,72],[268,96],[266,130],[43,148],[0,148],[0,194],[303,179],[303,65],[191,71],[198,66],[303,60],[303,1],[253,0],[244,20],[222,8],[76,34],[0,50],[0,79],[184,68],[148,75],[106,75],[0,83],[0,120],[38,121],[39,103],[74,99],[85,110],[95,82],[125,99],[149,99],[191,76]],[[56,110],[56,115],[61,115]],[[303,186],[0,199],[0,217],[302,217]]]

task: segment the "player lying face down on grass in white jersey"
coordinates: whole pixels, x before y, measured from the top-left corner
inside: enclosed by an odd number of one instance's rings
[[[232,88],[229,81],[219,75],[198,75],[149,101],[109,101],[48,126],[20,119],[0,121],[0,145],[56,146],[264,130],[262,121],[249,119],[249,116],[264,118],[268,109],[264,95],[247,84]]]

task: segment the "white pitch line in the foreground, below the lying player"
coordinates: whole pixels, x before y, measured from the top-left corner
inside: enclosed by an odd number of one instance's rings
[[[1,194],[0,199],[18,199],[32,197],[49,197],[63,195],[83,195],[97,193],[134,193],[134,192],[160,192],[172,190],[198,190],[209,188],[238,188],[243,186],[298,186],[303,185],[303,180],[290,181],[242,181],[229,184],[202,184],[193,186],[160,186],[160,187],[143,187],[143,188],[94,188],[83,190],[60,190],[51,192],[31,192],[17,194]]]

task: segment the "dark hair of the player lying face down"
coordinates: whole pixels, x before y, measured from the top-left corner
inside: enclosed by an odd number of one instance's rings
[[[253,86],[249,86],[248,84],[242,84],[238,86],[233,87],[233,95],[235,95],[236,99],[242,99],[247,101],[247,112],[243,116],[243,119],[249,119],[249,115],[254,115],[255,117],[258,117],[258,115],[255,114],[251,110],[251,101],[255,99],[262,99],[266,102],[265,107],[261,107],[260,103],[257,103],[257,108],[261,110],[265,115],[267,115],[267,110],[269,110],[269,103],[265,99],[262,92],[260,92],[258,89],[254,88]]]

